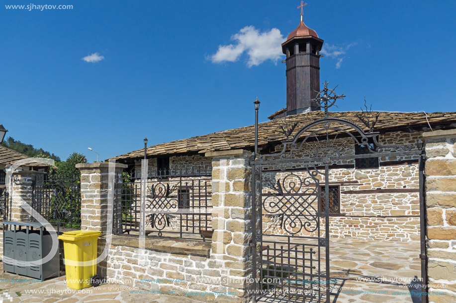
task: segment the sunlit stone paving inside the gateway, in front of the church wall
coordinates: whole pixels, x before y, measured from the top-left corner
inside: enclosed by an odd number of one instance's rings
[[[342,288],[331,292],[333,302],[421,302],[411,295],[421,289],[410,281],[421,277],[419,243],[336,239],[330,245],[331,279]]]

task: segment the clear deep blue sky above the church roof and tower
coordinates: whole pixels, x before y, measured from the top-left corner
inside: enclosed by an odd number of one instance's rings
[[[307,2],[304,22],[325,41],[321,81],[347,96],[339,111],[364,97],[373,110],[456,111],[455,1]],[[286,105],[277,48],[297,0],[34,4],[73,9],[0,7],[0,124],[62,159],[253,124],[257,96],[260,121]],[[214,57],[219,46],[228,53]]]

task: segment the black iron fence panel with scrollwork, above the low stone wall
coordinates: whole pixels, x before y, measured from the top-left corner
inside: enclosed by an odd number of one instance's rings
[[[143,192],[145,236],[204,241],[210,238],[210,175],[209,166],[177,166],[171,172],[150,172],[144,181],[135,171],[124,172],[122,180],[118,180],[122,189],[116,196],[114,234],[139,235]]]

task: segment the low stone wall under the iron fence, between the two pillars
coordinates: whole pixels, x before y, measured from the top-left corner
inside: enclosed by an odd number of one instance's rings
[[[201,292],[228,292],[220,285],[222,266],[209,258],[210,242],[147,238],[144,251],[137,242],[134,237],[113,237],[107,258],[111,281],[198,301],[215,301],[215,295]]]

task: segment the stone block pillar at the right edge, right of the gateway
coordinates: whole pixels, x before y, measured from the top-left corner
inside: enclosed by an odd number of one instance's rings
[[[456,130],[424,137],[429,302],[456,302]]]

